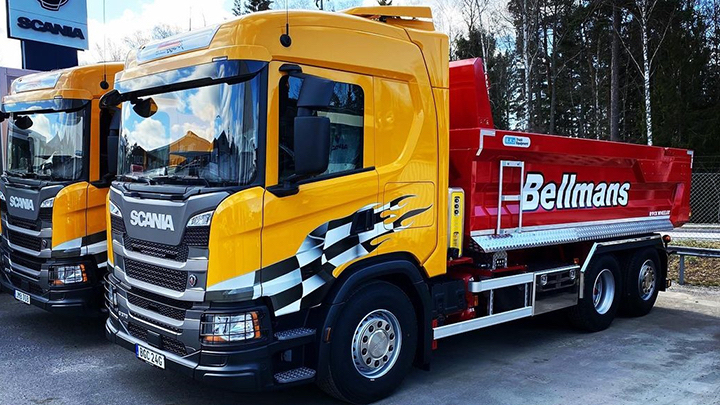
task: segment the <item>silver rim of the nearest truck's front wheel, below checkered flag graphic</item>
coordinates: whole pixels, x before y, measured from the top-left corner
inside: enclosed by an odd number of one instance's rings
[[[395,315],[378,309],[360,321],[351,347],[355,369],[365,378],[379,378],[387,374],[400,354],[402,331]]]

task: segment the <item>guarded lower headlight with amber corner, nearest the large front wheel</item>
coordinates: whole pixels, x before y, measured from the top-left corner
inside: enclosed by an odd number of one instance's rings
[[[228,343],[259,339],[260,318],[258,313],[206,314],[203,315],[200,337],[203,343]]]

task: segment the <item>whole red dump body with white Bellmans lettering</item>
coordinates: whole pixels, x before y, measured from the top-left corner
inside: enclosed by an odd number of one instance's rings
[[[465,191],[465,233],[483,250],[657,232],[688,221],[692,152],[494,130],[487,94],[481,60],[451,63],[450,186]]]

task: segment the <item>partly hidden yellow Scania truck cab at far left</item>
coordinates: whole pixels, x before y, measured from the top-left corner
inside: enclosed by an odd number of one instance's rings
[[[99,101],[122,66],[24,76],[3,99],[0,284],[26,304],[65,315],[104,310],[107,136],[120,114]]]

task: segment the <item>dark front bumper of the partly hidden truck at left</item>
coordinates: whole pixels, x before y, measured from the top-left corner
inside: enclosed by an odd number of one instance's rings
[[[86,266],[88,283],[64,287],[49,285],[48,270],[51,266],[77,263],[78,259],[43,260],[37,262],[40,270],[29,274],[11,267],[7,254],[3,254],[0,288],[10,294],[22,291],[30,296],[31,305],[54,314],[99,316],[104,312],[103,287],[100,281],[102,277],[97,274],[99,271],[94,262],[88,262],[90,264]]]

